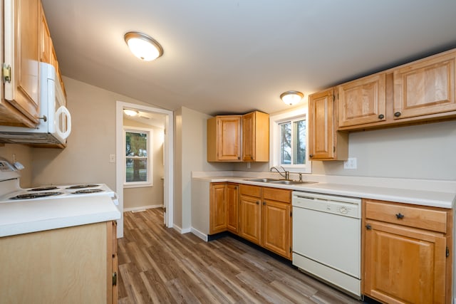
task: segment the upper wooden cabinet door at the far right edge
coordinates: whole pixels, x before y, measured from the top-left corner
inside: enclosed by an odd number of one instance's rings
[[[394,118],[455,111],[455,64],[453,52],[394,70]]]

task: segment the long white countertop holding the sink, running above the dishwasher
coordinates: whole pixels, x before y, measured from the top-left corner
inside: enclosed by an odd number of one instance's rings
[[[430,191],[420,189],[402,189],[395,187],[373,187],[358,184],[338,184],[333,182],[317,182],[315,184],[284,185],[264,182],[250,182],[245,179],[253,177],[194,177],[207,182],[235,182],[252,184],[263,187],[275,187],[293,189],[296,191],[316,192],[322,194],[334,194],[352,196],[362,199],[378,199],[382,201],[395,201],[398,203],[416,204],[421,206],[435,206],[451,209],[455,206],[456,189],[454,192]]]

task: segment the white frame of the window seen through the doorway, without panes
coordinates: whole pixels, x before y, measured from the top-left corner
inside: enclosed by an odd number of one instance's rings
[[[130,133],[147,133],[147,179],[145,182],[127,182],[127,155],[125,150],[127,148],[127,132]],[[145,127],[123,127],[123,187],[124,188],[138,188],[138,187],[152,187],[152,170],[153,170],[153,155],[152,155],[152,141],[153,141],[153,130]]]

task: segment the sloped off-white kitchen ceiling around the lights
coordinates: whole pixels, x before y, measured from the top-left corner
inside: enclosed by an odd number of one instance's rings
[[[288,109],[331,85],[456,47],[455,0],[42,0],[61,72],[167,110]],[[123,36],[164,55],[142,62]]]

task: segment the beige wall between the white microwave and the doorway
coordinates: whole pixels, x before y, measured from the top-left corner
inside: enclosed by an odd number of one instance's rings
[[[63,78],[73,127],[66,149],[33,149],[31,183],[105,183],[115,189],[115,102],[147,105],[71,78]]]

